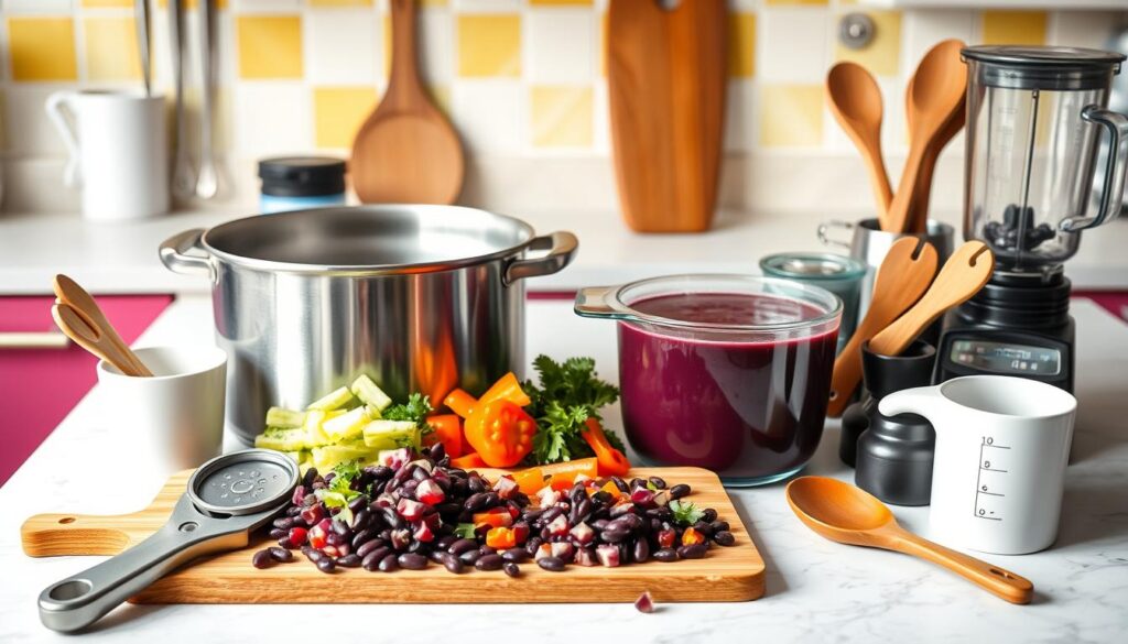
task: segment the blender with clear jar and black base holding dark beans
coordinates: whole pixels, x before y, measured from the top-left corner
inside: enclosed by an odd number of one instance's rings
[[[1064,263],[1081,231],[1116,218],[1128,117],[1107,109],[1125,56],[1076,47],[973,46],[968,65],[963,237],[995,253],[990,281],[944,319],[934,380],[999,373],[1073,390]],[[1090,213],[1101,132],[1102,189]]]

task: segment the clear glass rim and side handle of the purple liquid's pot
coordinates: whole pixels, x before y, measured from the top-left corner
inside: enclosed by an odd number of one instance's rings
[[[749,288],[763,289],[748,291]],[[742,290],[743,289],[743,290]],[[610,317],[626,321],[651,324],[708,332],[765,333],[800,330],[817,327],[832,321],[841,314],[843,301],[838,295],[813,284],[795,282],[778,277],[760,277],[730,273],[697,273],[686,275],[667,275],[638,280],[618,286],[606,289],[605,305],[608,311],[593,312],[580,303],[583,293],[578,294],[575,311],[588,317]],[[669,318],[650,315],[636,310],[633,305],[649,297],[675,295],[686,293],[749,293],[785,300],[817,308],[821,312],[813,317],[785,319],[775,323],[724,324],[700,323],[694,320]]]

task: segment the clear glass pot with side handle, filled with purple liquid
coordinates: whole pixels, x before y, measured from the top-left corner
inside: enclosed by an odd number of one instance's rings
[[[673,275],[582,289],[575,311],[618,320],[623,425],[647,464],[725,485],[799,471],[822,436],[841,300],[804,283]]]

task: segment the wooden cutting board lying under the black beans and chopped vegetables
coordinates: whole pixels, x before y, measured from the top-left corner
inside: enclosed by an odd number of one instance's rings
[[[490,470],[483,470],[488,473]],[[155,532],[184,493],[191,470],[174,475],[152,503],[117,517],[37,514],[24,522],[20,539],[33,557],[115,555]],[[764,559],[715,474],[693,467],[638,468],[632,476],[661,476],[693,487],[689,500],[716,509],[731,526],[735,546],[714,546],[704,559],[649,562],[617,568],[569,566],[550,573],[521,564],[521,576],[501,571],[455,575],[441,566],[424,571],[370,573],[338,568],[325,574],[300,554],[266,570],[250,555],[272,545],[262,536],[252,546],[197,559],[158,580],[130,601],[136,603],[550,603],[634,601],[650,591],[655,601],[748,601],[764,594]],[[85,562],[76,562],[76,572]]]

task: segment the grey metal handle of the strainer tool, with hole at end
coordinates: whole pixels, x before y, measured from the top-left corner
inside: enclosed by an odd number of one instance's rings
[[[245,546],[256,515],[217,521],[180,497],[160,530],[121,555],[39,593],[39,619],[53,630],[85,628],[126,599],[201,555]]]

